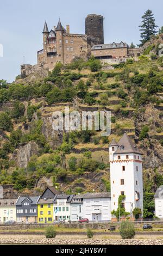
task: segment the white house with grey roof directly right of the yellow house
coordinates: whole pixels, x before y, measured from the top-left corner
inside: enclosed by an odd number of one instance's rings
[[[73,194],[58,194],[54,198],[54,221],[70,221],[70,203]]]

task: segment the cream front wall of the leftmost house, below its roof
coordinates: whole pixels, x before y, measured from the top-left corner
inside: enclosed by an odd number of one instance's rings
[[[0,223],[5,221],[16,221],[16,206],[0,207]]]

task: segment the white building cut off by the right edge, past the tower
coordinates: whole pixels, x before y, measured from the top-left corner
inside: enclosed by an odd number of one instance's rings
[[[163,185],[159,186],[154,195],[155,216],[163,218]]]

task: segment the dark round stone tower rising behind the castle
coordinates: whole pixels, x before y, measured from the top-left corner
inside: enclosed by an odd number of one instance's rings
[[[104,44],[104,17],[89,14],[85,18],[85,34],[98,40],[97,44]]]

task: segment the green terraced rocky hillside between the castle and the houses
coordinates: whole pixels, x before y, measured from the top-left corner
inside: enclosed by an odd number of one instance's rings
[[[143,153],[144,215],[152,217],[153,195],[163,184],[163,64],[150,51],[154,46],[113,70],[91,57],[59,63],[47,77],[1,80],[0,184],[26,194],[47,185],[65,193],[110,191],[108,145],[127,132]],[[110,110],[111,135],[54,132],[52,113],[65,106],[70,112]]]

